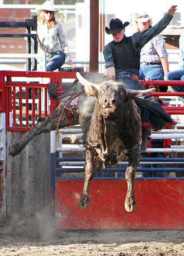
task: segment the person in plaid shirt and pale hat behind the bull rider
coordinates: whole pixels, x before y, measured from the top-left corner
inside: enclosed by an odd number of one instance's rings
[[[152,19],[146,13],[139,13],[136,18],[137,32],[145,31],[152,26]],[[162,36],[153,37],[140,51],[139,79],[164,80],[169,72],[168,53]],[[161,92],[167,92],[168,87],[160,87]]]

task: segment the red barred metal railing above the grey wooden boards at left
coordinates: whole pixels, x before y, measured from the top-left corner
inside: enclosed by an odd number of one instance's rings
[[[12,77],[19,77],[20,81],[12,81]],[[21,82],[21,77],[46,77],[50,81],[48,84],[42,84],[31,82],[32,79],[30,79],[30,83],[28,83]],[[63,78],[76,78],[76,73],[0,71],[0,112],[6,114],[7,130],[29,131],[35,125],[36,118],[52,114],[61,99],[58,101],[50,97],[50,106],[48,106],[47,87],[50,84],[58,83],[61,92]],[[17,92],[19,92],[19,97],[16,96],[16,88]],[[36,100],[38,101],[37,103]],[[25,124],[23,124],[23,119],[25,119]]]

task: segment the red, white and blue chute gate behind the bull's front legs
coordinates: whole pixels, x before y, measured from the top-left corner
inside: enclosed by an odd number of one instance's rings
[[[157,85],[158,84],[158,81]],[[175,81],[174,81],[175,82]],[[147,82],[150,83],[150,82]],[[154,81],[152,81],[154,84]],[[165,84],[165,83],[164,83]],[[154,84],[155,85],[155,84]],[[171,85],[171,83],[169,84]],[[172,83],[173,85],[173,83]],[[178,82],[175,83],[178,85]],[[153,93],[153,95],[177,96],[177,93]],[[184,95],[181,93],[180,95]],[[177,102],[178,103],[178,102]],[[177,105],[177,104],[176,104]],[[171,115],[184,114],[182,107],[166,107]],[[163,129],[152,133],[152,138],[184,139],[184,124],[177,124],[174,129]],[[141,164],[166,164],[165,168],[155,168],[157,172],[183,173],[183,158],[141,158],[136,170],[134,190],[137,209],[128,213],[124,209],[126,196],[125,174],[127,159],[117,164],[116,168],[102,169],[95,172],[90,186],[91,203],[89,209],[81,210],[78,200],[82,192],[85,161],[84,145],[71,145],[71,135],[80,137],[80,127],[61,129],[58,141],[55,132],[51,133],[51,189],[52,210],[55,225],[58,229],[182,229],[183,225],[183,177],[143,178],[142,171],[153,171],[152,168],[141,168]],[[56,140],[56,141],[55,141]],[[171,148],[149,148],[146,152],[184,153],[180,145]],[[68,155],[71,157],[68,157]],[[77,155],[77,157],[73,157]],[[80,157],[78,157],[80,156]],[[170,167],[172,166],[172,167]],[[176,167],[177,166],[177,167]],[[108,175],[107,175],[108,174]],[[119,176],[118,176],[119,175]],[[174,176],[174,175],[173,175]],[[174,218],[174,219],[173,219]]]

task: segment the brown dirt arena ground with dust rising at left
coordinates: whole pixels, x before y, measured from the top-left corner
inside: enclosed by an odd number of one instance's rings
[[[0,221],[0,256],[184,256],[184,230],[56,230],[43,214]]]

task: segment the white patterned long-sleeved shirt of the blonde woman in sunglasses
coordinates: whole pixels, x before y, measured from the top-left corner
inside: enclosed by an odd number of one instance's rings
[[[47,54],[54,51],[63,51],[67,59],[71,60],[67,39],[61,23],[56,22],[52,29],[48,29],[47,23],[38,21],[37,37],[42,51]]]

